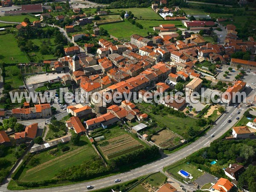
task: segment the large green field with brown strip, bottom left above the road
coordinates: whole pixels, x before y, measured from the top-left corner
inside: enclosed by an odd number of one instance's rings
[[[82,143],[89,143],[85,136],[81,139]],[[61,152],[59,150],[56,153],[56,156],[49,154],[49,151],[51,150],[35,154],[32,158],[37,158],[39,160],[39,164],[30,165],[28,163],[20,175],[19,180],[29,182],[52,179],[55,177],[56,173],[61,171],[61,169],[79,165],[83,161],[90,160],[92,156],[96,155],[96,152],[90,144],[83,145],[81,147],[73,146],[69,143],[65,145],[70,146],[72,150],[67,152]]]

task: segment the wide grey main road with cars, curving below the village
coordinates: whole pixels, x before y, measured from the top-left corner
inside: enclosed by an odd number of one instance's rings
[[[126,182],[128,180],[132,180],[134,178],[137,178],[143,175],[161,171],[163,167],[171,165],[172,163],[175,163],[189,156],[190,154],[194,153],[195,151],[198,151],[201,148],[209,146],[213,140],[217,139],[218,137],[221,137],[226,131],[228,131],[233,125],[235,125],[235,123],[237,122],[236,116],[239,116],[241,118],[245,109],[246,109],[246,106],[244,105],[241,108],[234,108],[232,106],[227,107],[227,112],[224,114],[224,116],[222,116],[221,119],[218,120],[217,125],[212,129],[210,129],[207,132],[207,134],[205,134],[203,137],[198,139],[196,142],[186,146],[185,148],[182,148],[179,151],[176,151],[175,153],[170,154],[169,157],[165,157],[161,160],[157,160],[153,163],[149,163],[137,169],[133,169],[129,172],[113,175],[111,177],[106,177],[100,180],[93,180],[89,182],[77,183],[73,185],[61,186],[61,187],[55,187],[55,188],[32,189],[29,191],[32,191],[32,192],[56,192],[56,191],[78,192],[79,191],[81,192],[81,191],[87,191],[86,189],[87,185],[94,186],[94,190],[96,190],[96,189],[102,189],[102,188],[114,185],[115,183],[113,181],[115,179],[121,179],[122,182]],[[240,111],[241,113],[236,114],[237,111]],[[231,123],[227,122],[229,119],[232,120]],[[211,134],[214,134],[215,137],[210,137]],[[3,190],[3,189],[0,188],[0,190]],[[3,190],[3,191],[8,191],[8,190]]]

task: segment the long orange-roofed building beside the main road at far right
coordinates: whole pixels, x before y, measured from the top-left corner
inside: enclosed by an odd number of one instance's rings
[[[246,82],[236,81],[233,86],[228,86],[224,94],[221,95],[221,98],[228,105],[233,101],[233,97],[236,99],[236,95],[241,93],[245,88]]]

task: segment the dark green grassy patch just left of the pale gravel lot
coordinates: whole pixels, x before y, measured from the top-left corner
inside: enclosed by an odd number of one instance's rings
[[[5,70],[5,84],[10,84],[15,89],[23,85],[22,77],[19,75],[20,69],[16,65],[6,66]]]

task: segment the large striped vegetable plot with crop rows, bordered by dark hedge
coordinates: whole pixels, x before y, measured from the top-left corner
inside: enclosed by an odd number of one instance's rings
[[[128,134],[99,142],[99,148],[107,159],[138,150],[144,146]]]

